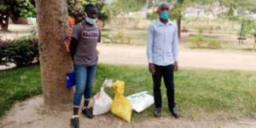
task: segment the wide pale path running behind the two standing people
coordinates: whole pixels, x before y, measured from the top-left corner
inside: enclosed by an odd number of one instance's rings
[[[100,62],[147,66],[146,46],[99,44]],[[256,71],[256,52],[179,49],[178,62],[185,68],[238,69]]]

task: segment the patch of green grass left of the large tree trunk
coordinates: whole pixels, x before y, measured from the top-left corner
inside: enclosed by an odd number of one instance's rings
[[[0,71],[0,117],[16,101],[42,93],[38,66]]]

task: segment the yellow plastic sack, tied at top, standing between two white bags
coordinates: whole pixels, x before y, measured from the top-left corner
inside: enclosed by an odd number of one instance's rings
[[[116,81],[113,83],[114,99],[110,112],[125,121],[131,121],[131,102],[123,96],[125,91],[125,82]]]

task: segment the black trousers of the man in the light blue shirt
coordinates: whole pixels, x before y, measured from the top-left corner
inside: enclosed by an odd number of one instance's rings
[[[162,96],[160,90],[161,79],[164,77],[166,85],[166,94],[168,98],[168,107],[174,108],[174,82],[173,82],[173,65],[157,66],[154,65],[155,73],[152,75],[154,82],[154,105],[155,108],[162,108]]]

